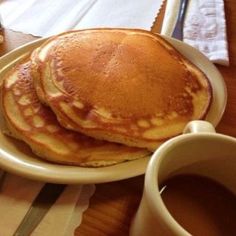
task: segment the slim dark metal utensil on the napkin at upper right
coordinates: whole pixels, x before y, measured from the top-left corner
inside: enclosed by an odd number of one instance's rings
[[[179,40],[183,40],[184,17],[185,17],[187,5],[188,5],[188,0],[180,1],[177,21],[171,35],[173,38],[176,38]]]

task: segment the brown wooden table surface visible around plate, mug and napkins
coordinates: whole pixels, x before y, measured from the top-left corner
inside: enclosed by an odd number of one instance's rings
[[[153,32],[160,32],[165,5],[157,17]],[[225,0],[230,66],[218,66],[228,90],[228,103],[216,131],[236,137],[236,1]],[[12,49],[35,40],[31,35],[2,30],[5,41],[0,45],[0,56]],[[129,225],[140,202],[144,176],[127,180],[98,184],[91,198],[89,209],[84,213],[78,235],[128,235]]]

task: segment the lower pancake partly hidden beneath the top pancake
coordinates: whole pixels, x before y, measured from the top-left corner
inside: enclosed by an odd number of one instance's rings
[[[30,62],[12,69],[2,85],[2,112],[11,135],[27,143],[38,156],[56,163],[107,166],[147,156],[145,149],[87,137],[60,126],[42,105],[33,87]]]

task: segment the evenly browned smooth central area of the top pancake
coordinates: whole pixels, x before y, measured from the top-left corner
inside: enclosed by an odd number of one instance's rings
[[[63,80],[63,89],[83,104],[121,117],[193,112],[186,88],[196,91],[201,85],[162,39],[129,31],[81,31],[68,37],[59,37],[48,57],[57,85]]]

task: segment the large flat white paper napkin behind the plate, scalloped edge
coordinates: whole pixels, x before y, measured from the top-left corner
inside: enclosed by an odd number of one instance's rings
[[[126,27],[150,30],[163,0],[3,0],[4,27],[35,36],[70,29]]]

